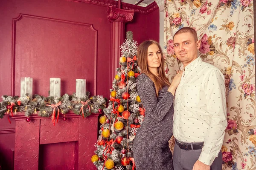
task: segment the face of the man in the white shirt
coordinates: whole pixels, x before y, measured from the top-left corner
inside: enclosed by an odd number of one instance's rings
[[[175,55],[183,63],[184,67],[198,57],[201,41],[196,41],[190,32],[175,35],[173,43]]]

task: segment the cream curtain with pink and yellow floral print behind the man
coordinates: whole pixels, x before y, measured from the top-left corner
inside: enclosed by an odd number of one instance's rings
[[[184,26],[197,31],[203,61],[225,77],[228,126],[221,149],[223,169],[256,170],[253,1],[167,0],[164,58],[170,80],[180,66],[173,35]]]

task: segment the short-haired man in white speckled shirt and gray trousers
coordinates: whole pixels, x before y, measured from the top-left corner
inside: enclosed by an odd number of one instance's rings
[[[173,41],[183,63],[174,100],[174,169],[221,170],[227,127],[224,76],[198,57],[201,41],[194,29],[180,29]]]

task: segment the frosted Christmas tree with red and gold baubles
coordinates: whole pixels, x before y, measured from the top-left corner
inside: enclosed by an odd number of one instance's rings
[[[110,90],[109,105],[99,121],[102,124],[92,161],[98,170],[134,169],[133,139],[143,122],[145,109],[137,93],[137,42],[133,33],[127,32],[125,42],[120,46],[122,56],[120,68]]]

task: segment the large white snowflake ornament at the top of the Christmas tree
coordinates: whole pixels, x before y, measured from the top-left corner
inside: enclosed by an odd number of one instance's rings
[[[126,39],[125,42],[120,46],[121,54],[125,56],[136,55],[137,47],[137,41]]]

